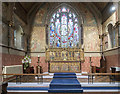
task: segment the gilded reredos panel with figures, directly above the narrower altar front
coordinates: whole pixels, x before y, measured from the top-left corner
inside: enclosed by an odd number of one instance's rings
[[[46,48],[46,61],[84,61],[81,48]]]

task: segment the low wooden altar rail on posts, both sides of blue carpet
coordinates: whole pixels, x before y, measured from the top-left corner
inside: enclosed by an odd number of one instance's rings
[[[38,83],[43,83],[43,76],[47,76],[47,75],[49,75],[49,74],[0,74],[0,76],[4,76],[4,75],[12,75],[12,76],[15,76],[16,77],[16,83],[21,83],[22,81],[21,81],[21,78],[23,77],[23,76],[26,76],[26,80],[28,80],[29,79],[29,76],[37,76],[37,82]],[[88,73],[88,74],[82,74],[83,76],[84,75],[86,75],[86,76],[88,76],[88,84],[89,83],[92,83],[93,84],[93,81],[94,81],[94,76],[102,76],[102,77],[104,77],[104,76],[108,76],[109,77],[109,79],[110,79],[110,83],[111,82],[114,82],[115,83],[115,81],[117,81],[116,80],[116,76],[118,77],[118,78],[120,78],[120,73]],[[49,75],[50,76],[50,75]],[[77,75],[77,76],[79,76],[79,75]],[[81,75],[80,75],[81,76]],[[119,81],[120,81],[120,79],[119,79]]]

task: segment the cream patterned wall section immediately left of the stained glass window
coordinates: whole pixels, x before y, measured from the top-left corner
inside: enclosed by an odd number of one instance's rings
[[[33,27],[31,33],[31,52],[45,52],[46,40],[45,40],[45,27]]]

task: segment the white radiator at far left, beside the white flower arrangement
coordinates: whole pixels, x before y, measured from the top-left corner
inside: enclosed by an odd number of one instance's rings
[[[3,74],[22,74],[23,73],[23,67],[22,65],[12,65],[12,66],[4,66]],[[4,78],[11,77],[13,75],[5,75]]]

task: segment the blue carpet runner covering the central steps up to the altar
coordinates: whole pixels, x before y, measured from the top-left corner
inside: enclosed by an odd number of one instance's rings
[[[48,92],[81,93],[83,89],[76,78],[75,73],[55,73]]]

